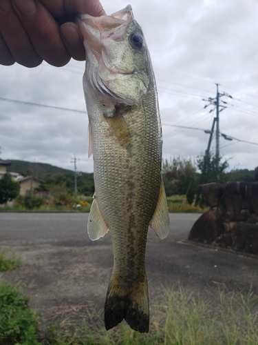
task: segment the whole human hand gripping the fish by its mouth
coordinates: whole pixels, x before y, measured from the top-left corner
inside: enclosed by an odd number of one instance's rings
[[[99,0],[0,0],[0,64],[64,66],[85,59],[83,36],[72,17],[105,14]],[[59,26],[59,24],[63,25]]]

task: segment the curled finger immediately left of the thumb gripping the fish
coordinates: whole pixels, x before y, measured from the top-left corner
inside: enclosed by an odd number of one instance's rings
[[[61,39],[59,26],[39,0],[13,0],[14,10],[30,37],[34,50],[52,66],[64,66],[71,58]],[[30,12],[31,6],[36,11]]]

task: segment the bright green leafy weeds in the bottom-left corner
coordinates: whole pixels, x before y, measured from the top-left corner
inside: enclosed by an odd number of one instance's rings
[[[36,333],[37,318],[28,302],[28,297],[21,295],[19,285],[0,281],[0,344],[40,344]]]

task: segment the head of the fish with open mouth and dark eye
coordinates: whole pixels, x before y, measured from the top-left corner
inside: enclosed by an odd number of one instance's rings
[[[131,6],[111,16],[80,15],[84,37],[84,78],[111,101],[138,105],[149,86],[149,52]]]

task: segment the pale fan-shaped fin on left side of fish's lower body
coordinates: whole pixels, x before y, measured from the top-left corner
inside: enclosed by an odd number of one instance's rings
[[[100,213],[100,208],[98,207],[98,201],[96,199],[94,199],[94,201],[92,202],[87,227],[89,238],[92,239],[92,241],[105,236],[105,234],[109,230],[107,224],[103,219],[103,216]]]

